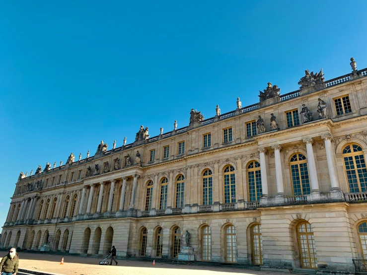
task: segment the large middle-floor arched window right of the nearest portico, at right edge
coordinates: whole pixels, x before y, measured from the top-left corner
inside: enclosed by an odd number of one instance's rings
[[[348,144],[343,149],[343,158],[349,192],[366,192],[367,168],[361,146],[355,143]]]

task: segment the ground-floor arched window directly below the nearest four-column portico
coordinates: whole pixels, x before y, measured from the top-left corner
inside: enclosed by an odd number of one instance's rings
[[[302,268],[315,269],[317,267],[317,258],[311,224],[306,221],[298,224],[297,237]]]

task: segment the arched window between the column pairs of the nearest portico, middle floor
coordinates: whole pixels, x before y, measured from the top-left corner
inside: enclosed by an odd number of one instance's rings
[[[301,153],[295,153],[290,160],[294,196],[310,194],[307,159]]]

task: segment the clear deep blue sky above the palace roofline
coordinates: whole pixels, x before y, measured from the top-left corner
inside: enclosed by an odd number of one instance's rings
[[[367,67],[367,1],[2,1],[0,225],[20,171]]]

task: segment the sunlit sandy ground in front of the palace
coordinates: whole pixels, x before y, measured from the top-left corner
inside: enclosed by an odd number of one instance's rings
[[[5,251],[0,256],[6,255]],[[190,265],[171,265],[165,263],[152,263],[118,260],[115,266],[99,266],[103,259],[87,257],[64,257],[64,265],[60,265],[62,256],[41,255],[32,253],[19,253],[19,268],[35,271],[44,271],[63,275],[265,275],[270,272],[260,272],[230,268],[211,268]],[[109,260],[109,259],[108,259]],[[276,273],[282,275],[284,273]]]

